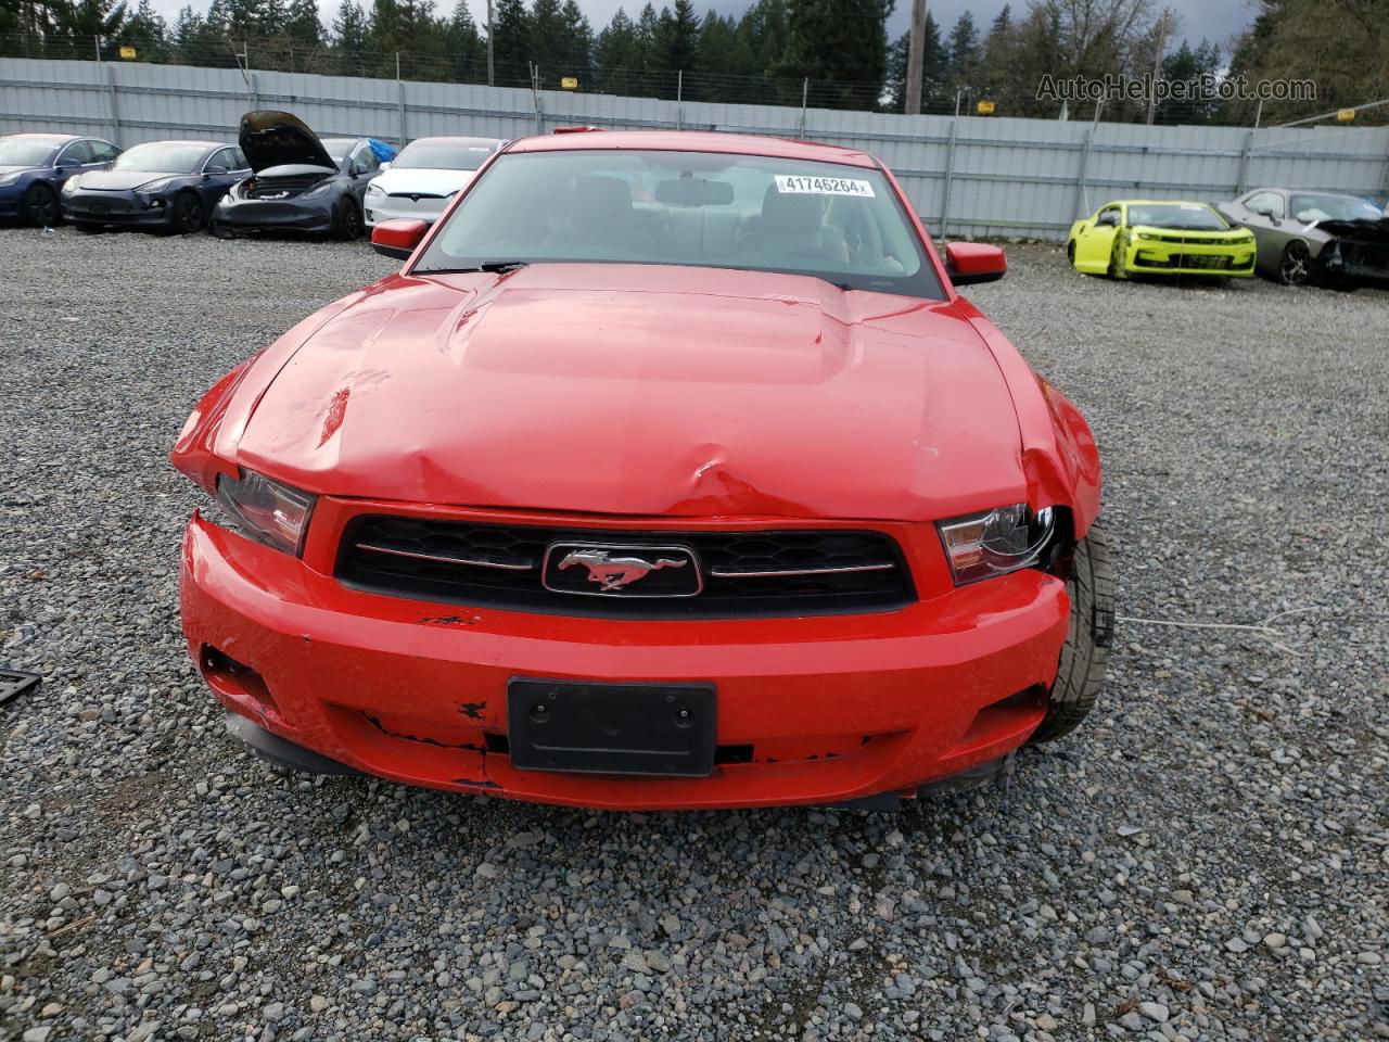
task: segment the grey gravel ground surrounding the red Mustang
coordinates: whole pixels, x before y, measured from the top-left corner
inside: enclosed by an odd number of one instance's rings
[[[188,410],[389,261],[0,254],[0,661],[46,677],[0,709],[0,1036],[1389,1036],[1389,293],[1014,247],[971,297],[1106,458],[1095,716],[897,816],[590,814],[272,777],[181,646]]]

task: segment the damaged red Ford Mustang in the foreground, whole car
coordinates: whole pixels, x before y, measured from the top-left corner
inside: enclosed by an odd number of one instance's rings
[[[189,649],[282,767],[589,807],[895,804],[1090,709],[1075,407],[861,151],[568,133],[197,404]]]

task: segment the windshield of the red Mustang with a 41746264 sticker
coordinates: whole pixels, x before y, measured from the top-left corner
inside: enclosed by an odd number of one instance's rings
[[[704,151],[504,154],[415,274],[499,261],[682,264],[940,299],[876,169]]]

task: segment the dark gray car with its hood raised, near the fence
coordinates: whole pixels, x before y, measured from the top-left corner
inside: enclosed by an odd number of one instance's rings
[[[372,138],[319,138],[290,113],[242,117],[238,138],[251,176],[232,186],[213,213],[213,231],[326,232],[357,239],[363,197],[394,150]]]

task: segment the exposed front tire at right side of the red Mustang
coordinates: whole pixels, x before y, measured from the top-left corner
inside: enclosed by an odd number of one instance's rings
[[[1065,590],[1071,597],[1071,621],[1056,682],[1047,693],[1046,717],[1032,734],[1033,742],[1071,734],[1089,716],[1104,682],[1114,638],[1114,565],[1099,520],[1075,545]]]

